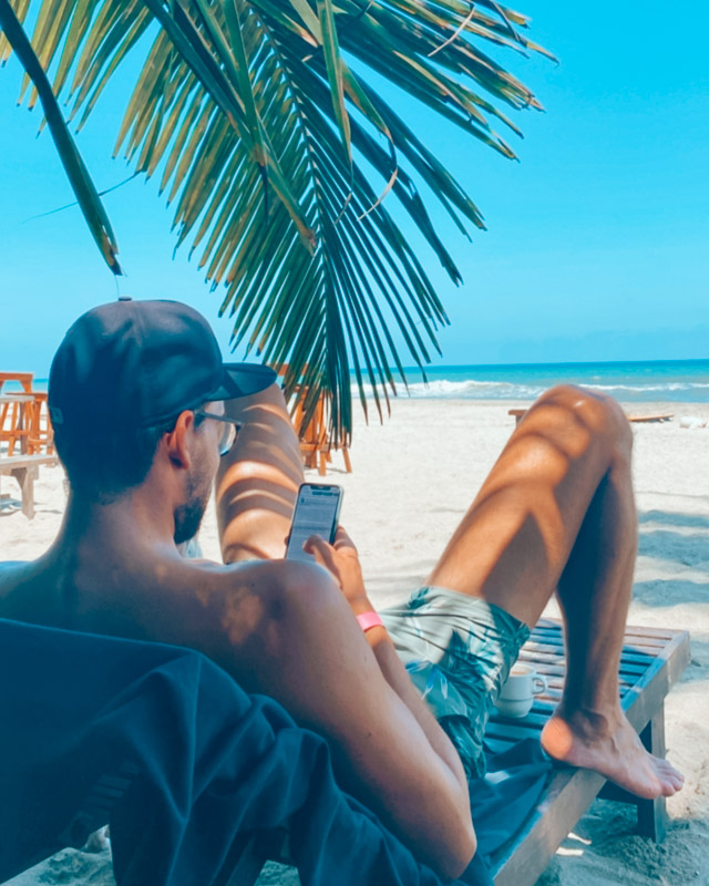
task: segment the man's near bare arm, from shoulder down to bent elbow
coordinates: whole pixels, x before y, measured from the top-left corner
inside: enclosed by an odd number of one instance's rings
[[[423,702],[408,699],[414,714],[384,678],[380,661],[409,691],[393,649],[378,645],[376,657],[325,569],[243,564],[187,605],[166,614],[172,642],[198,643],[244,689],[271,696],[328,738],[348,784],[414,855],[443,877],[461,874],[475,834],[460,761]]]

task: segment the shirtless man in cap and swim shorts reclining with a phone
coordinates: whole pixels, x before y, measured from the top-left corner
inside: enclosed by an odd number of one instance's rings
[[[571,387],[540,398],[427,586],[362,630],[373,607],[342,530],[307,543],[322,566],[282,559],[302,470],[274,381],[225,368],[206,320],[177,302],[80,318],[49,390],[66,514],[44,555],[0,569],[0,616],[199,649],[327,735],[350,790],[455,877],[475,851],[466,780],[487,713],[556,591],[568,672],[545,750],[644,797],[679,790],[618,702],[637,530],[617,404]],[[176,547],[215,476],[226,565]]]

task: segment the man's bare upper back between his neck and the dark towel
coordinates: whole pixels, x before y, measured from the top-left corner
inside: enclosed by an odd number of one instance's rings
[[[110,554],[82,559],[51,549],[31,563],[0,564],[0,617],[188,646],[216,659],[227,636],[234,672],[235,652],[256,631],[273,577],[286,566],[224,566],[176,552],[154,558],[126,553],[112,562]],[[244,688],[264,691],[253,673],[248,667],[238,674]]]

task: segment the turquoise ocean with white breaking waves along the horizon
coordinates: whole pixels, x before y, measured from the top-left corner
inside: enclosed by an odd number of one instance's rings
[[[435,367],[427,370],[425,384],[419,370],[405,371],[409,395],[419,399],[531,401],[553,384],[572,382],[607,391],[625,402],[709,402],[709,360]],[[34,387],[47,390],[47,379],[35,379]],[[397,389],[405,396],[398,379]],[[4,390],[19,390],[19,385],[8,383]],[[354,383],[352,393],[357,393]]]

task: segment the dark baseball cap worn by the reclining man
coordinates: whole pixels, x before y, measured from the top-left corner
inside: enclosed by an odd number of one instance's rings
[[[224,363],[209,323],[189,306],[121,298],[82,315],[64,336],[49,374],[49,409],[68,431],[131,431],[274,381],[269,367]]]

